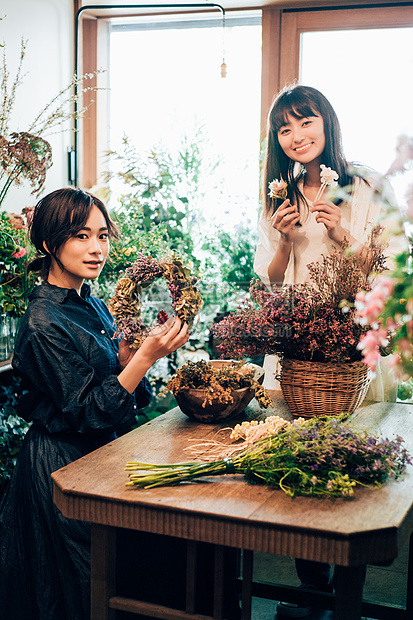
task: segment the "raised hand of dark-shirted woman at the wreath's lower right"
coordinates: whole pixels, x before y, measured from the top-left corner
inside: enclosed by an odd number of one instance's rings
[[[170,317],[166,323],[158,325],[149,333],[139,348],[139,354],[153,364],[182,347],[188,338],[188,324],[182,323],[178,317]]]

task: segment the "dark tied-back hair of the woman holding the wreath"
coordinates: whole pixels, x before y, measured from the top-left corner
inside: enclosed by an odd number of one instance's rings
[[[118,228],[110,219],[104,203],[89,192],[67,187],[39,200],[30,224],[30,241],[38,256],[29,264],[28,271],[39,271],[41,278],[47,280],[51,257],[62,267],[57,258],[59,248],[85,227],[93,206],[105,218],[109,237],[119,239]]]

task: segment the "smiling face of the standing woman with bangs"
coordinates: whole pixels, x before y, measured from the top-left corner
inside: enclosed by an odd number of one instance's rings
[[[317,163],[325,147],[324,122],[321,116],[295,118],[287,115],[286,124],[277,132],[284,153],[301,164]]]

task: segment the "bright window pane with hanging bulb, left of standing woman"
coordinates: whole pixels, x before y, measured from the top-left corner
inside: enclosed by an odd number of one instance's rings
[[[163,144],[173,152],[184,136],[203,127],[207,155],[222,161],[210,179],[204,211],[215,223],[233,222],[239,210],[256,218],[260,14],[227,17],[225,38],[221,16],[209,15],[206,23],[183,19],[112,29],[111,149],[126,134],[139,150]],[[220,72],[224,53],[226,78]]]

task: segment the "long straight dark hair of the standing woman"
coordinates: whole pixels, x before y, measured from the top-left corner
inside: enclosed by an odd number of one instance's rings
[[[274,201],[268,196],[268,184],[274,179],[282,178],[287,182],[287,198],[291,204],[296,204],[299,210],[300,205],[306,204],[303,194],[298,189],[298,184],[304,178],[305,168],[299,167],[299,164],[287,157],[278,141],[278,131],[288,123],[289,115],[297,119],[321,116],[325,134],[323,164],[338,173],[341,187],[350,185],[353,180],[353,176],[349,173],[350,164],[343,152],[340,123],[331,103],[320,91],[311,86],[295,84],[285,87],[276,96],[268,115],[262,192],[264,208],[271,215],[282,202]]]

